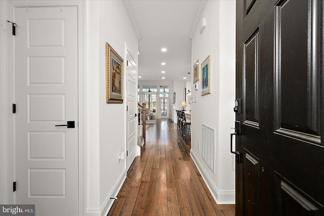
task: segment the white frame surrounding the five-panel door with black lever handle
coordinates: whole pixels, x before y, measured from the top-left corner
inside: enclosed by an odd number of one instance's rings
[[[84,29],[85,5],[84,1],[32,1],[32,0],[8,0],[0,1],[0,23],[6,24],[6,20],[13,19],[13,11],[16,7],[46,7],[46,6],[75,6],[78,8],[78,211],[79,215],[84,215],[86,212],[86,189],[87,189],[87,176],[85,170],[85,151],[86,151],[86,86],[85,71],[84,71],[84,38],[86,32]],[[15,179],[15,158],[14,158],[14,114],[12,113],[12,104],[15,103],[14,90],[15,90],[15,74],[13,70],[14,65],[14,42],[13,35],[11,34],[11,25],[0,29],[0,45],[5,48],[0,52],[0,203],[12,204],[15,201],[15,193],[12,192],[12,182]],[[19,26],[17,27],[19,28]],[[17,31],[18,33],[18,31]],[[4,178],[8,177],[8,178]]]

